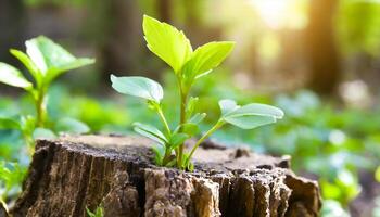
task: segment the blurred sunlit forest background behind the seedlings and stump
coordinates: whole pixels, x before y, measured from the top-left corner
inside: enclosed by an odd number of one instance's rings
[[[292,156],[293,169],[319,181],[322,216],[380,216],[379,0],[0,0],[0,61],[46,35],[97,63],[62,76],[50,90],[49,114],[86,123],[91,132],[131,133],[156,122],[141,101],[115,94],[109,76],[143,75],[178,102],[173,73],[145,48],[142,15],[183,29],[195,48],[233,40],[223,66],[195,85],[206,129],[223,98],[281,107],[286,118],[252,131],[224,128],[226,145]],[[0,84],[2,113],[34,113],[30,99]],[[212,102],[212,103],[211,103]],[[178,113],[166,106],[176,122]],[[0,159],[27,167],[20,132],[0,130]],[[18,191],[17,189],[14,191]]]

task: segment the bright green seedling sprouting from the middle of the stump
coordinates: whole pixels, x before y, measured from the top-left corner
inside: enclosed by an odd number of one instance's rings
[[[214,41],[193,51],[185,34],[169,24],[144,15],[142,27],[149,50],[166,62],[176,75],[180,95],[178,126],[170,128],[165,118],[161,102],[164,91],[156,81],[138,76],[116,77],[114,75],[111,75],[111,81],[117,92],[147,100],[148,106],[157,113],[164,131],[151,125],[135,124],[135,130],[138,133],[161,144],[161,148],[154,149],[157,165],[192,170],[191,157],[195,150],[225,124],[242,129],[253,129],[282,118],[283,112],[270,105],[251,103],[240,106],[232,100],[221,100],[219,101],[220,118],[195,142],[190,151],[186,152],[185,141],[199,132],[199,124],[206,116],[204,113],[193,114],[198,98],[190,97],[191,87],[229,55],[235,42]]]

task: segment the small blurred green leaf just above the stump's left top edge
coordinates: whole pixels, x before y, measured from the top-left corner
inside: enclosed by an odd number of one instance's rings
[[[55,129],[58,132],[71,133],[86,133],[90,131],[90,128],[85,123],[71,117],[59,119]]]

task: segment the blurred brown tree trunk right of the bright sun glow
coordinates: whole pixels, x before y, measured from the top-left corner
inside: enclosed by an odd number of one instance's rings
[[[337,0],[312,0],[306,46],[309,58],[309,87],[322,94],[335,91],[341,77],[339,53],[334,40],[333,15]]]

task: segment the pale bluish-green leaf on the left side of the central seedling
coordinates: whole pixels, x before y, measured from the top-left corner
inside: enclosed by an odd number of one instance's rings
[[[111,81],[113,89],[119,93],[143,98],[156,103],[160,103],[164,97],[164,90],[161,85],[145,77],[116,77],[111,75]]]

